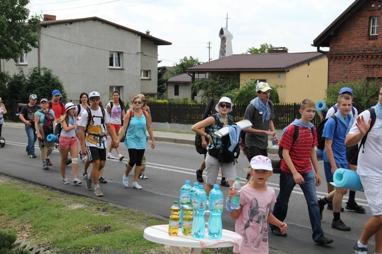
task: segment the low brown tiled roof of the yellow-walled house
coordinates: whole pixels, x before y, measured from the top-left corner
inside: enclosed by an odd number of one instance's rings
[[[325,54],[320,52],[233,54],[188,68],[187,71],[287,71],[323,57]]]

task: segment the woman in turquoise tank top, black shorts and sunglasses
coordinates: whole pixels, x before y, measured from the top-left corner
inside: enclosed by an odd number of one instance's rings
[[[151,129],[151,116],[142,111],[143,101],[141,97],[134,96],[131,100],[133,105],[132,111],[126,113],[123,119],[123,126],[120,130],[118,140],[121,140],[123,134],[126,132],[125,145],[127,147],[130,161],[126,164],[126,172],[123,175],[122,183],[127,188],[129,187],[128,175],[135,165],[134,181],[132,187],[135,189],[142,189],[138,184],[139,175],[141,173],[142,157],[145,154],[147,146],[146,127],[151,138],[151,149],[155,148],[154,134]],[[130,114],[131,119],[130,119]]]

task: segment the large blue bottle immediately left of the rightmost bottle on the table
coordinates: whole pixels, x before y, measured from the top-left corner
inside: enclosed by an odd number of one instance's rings
[[[193,238],[204,238],[204,211],[206,210],[207,193],[203,190],[203,185],[199,185],[199,189],[194,192],[194,220],[191,236]]]

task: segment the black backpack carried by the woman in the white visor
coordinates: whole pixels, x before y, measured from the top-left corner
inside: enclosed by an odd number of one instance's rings
[[[224,127],[224,123],[220,120],[220,118],[217,115],[219,115],[219,113],[213,114],[211,116],[213,116],[215,118],[217,126],[219,126],[219,129],[221,129]],[[227,115],[227,118],[228,118],[228,125],[234,125],[233,124],[233,118],[230,115]],[[209,131],[211,132],[211,130],[209,130]],[[212,139],[212,141],[213,141],[213,139]],[[229,135],[225,135],[222,137],[222,146],[219,149],[212,148],[212,149],[208,150],[208,154],[211,155],[212,157],[218,159],[219,162],[223,162],[223,163],[233,162],[233,164],[235,164],[235,162],[237,162],[237,158],[239,157],[239,154],[240,154],[239,144],[240,144],[240,139],[238,140],[238,142],[237,142],[235,148],[232,150],[232,152],[229,151],[228,148],[231,146],[231,139],[230,139]],[[215,144],[214,144],[214,146],[215,146]]]

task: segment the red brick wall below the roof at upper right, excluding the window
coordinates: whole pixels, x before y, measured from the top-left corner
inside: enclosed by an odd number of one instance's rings
[[[382,77],[382,11],[375,1],[366,1],[331,36],[329,84],[338,81]],[[370,17],[379,16],[378,36],[369,36]]]

